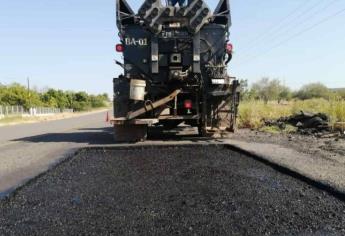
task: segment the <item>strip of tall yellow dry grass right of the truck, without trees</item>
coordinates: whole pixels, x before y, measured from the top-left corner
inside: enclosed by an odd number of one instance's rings
[[[331,123],[345,121],[345,100],[311,99],[305,101],[291,101],[284,104],[263,101],[244,101],[240,105],[239,127],[259,129],[264,126],[263,119],[277,119],[289,116],[299,111],[326,113]]]

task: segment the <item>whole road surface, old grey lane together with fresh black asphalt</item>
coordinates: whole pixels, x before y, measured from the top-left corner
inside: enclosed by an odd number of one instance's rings
[[[345,235],[339,196],[193,129],[113,145],[105,116],[0,128],[0,199],[27,183],[0,200],[0,235]]]

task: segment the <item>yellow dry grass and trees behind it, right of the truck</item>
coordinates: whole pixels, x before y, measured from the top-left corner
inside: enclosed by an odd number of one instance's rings
[[[272,129],[264,126],[264,120],[300,111],[326,113],[331,124],[345,121],[345,89],[329,89],[321,83],[313,83],[292,91],[280,80],[263,78],[250,87],[247,81],[242,81],[241,90],[239,128]],[[293,131],[294,128],[288,127],[287,130]]]

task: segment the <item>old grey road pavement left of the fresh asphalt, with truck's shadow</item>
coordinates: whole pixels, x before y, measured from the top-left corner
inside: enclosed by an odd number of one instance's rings
[[[69,152],[112,143],[106,112],[64,120],[0,127],[0,197],[46,171]]]

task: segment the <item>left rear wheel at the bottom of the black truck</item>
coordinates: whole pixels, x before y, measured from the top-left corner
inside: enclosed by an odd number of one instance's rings
[[[147,125],[114,125],[117,143],[140,142],[147,139]]]

